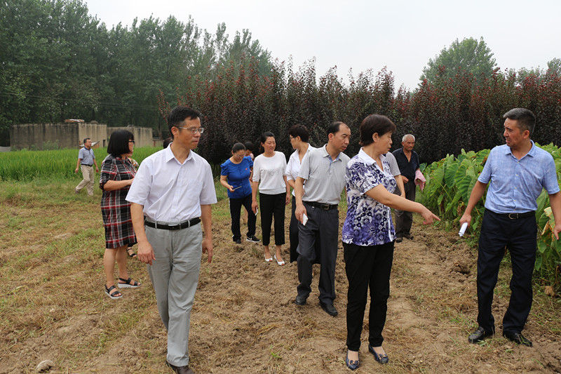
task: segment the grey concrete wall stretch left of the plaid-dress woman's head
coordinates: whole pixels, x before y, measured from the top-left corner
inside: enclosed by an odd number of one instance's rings
[[[107,147],[107,125],[93,123],[24,123],[10,128],[10,146],[13,150],[43,149],[50,145],[58,148],[77,148],[84,138]]]

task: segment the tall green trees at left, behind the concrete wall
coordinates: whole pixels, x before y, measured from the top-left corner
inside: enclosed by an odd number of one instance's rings
[[[158,90],[171,99],[187,76],[212,79],[241,55],[269,74],[270,53],[247,29],[231,38],[224,23],[212,34],[173,15],[107,29],[81,0],[0,1],[0,145],[13,123],[69,118],[160,135]]]

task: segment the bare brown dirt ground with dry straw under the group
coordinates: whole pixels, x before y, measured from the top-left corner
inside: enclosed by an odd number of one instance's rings
[[[344,364],[347,282],[342,246],[336,272],[339,316],[332,317],[318,305],[316,278],[308,305],[297,307],[296,263],[279,267],[264,262],[262,246],[233,244],[229,219],[215,221],[215,259],[201,267],[191,318],[189,350],[196,373],[350,373]],[[548,314],[557,314],[559,323],[558,302],[536,295],[542,313],[532,309],[525,329],[533,348],[515,346],[500,335],[484,345],[468,344],[467,335],[476,327],[475,253],[454,233],[419,222],[412,234],[412,241],[396,244],[384,330],[390,364],[380,366],[367,353],[365,321],[356,373],[561,373],[560,326],[548,323]],[[84,302],[76,313],[56,308],[50,321],[42,321],[45,326],[37,336],[4,340],[0,373],[30,373],[43,359],[55,362],[50,373],[170,373],[163,366],[166,335],[146,270],[130,264],[145,287],[125,290],[118,302],[101,295],[100,258],[93,256],[91,264],[81,265],[97,271],[97,283],[87,291],[103,298],[101,307]],[[77,267],[66,275],[66,291],[72,295],[84,291],[69,282],[79,282],[82,271]],[[27,276],[46,272],[46,265],[37,265]],[[508,276],[508,268],[501,272],[501,279]],[[57,290],[45,286],[43,292],[55,298]],[[508,295],[508,282],[502,282],[494,304],[499,322]],[[77,361],[74,351],[81,345],[97,348],[89,355],[82,352],[83,359]]]

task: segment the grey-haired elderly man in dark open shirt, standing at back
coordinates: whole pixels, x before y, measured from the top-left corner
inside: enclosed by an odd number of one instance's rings
[[[415,137],[411,134],[403,135],[400,149],[393,151],[398,161],[403,187],[405,187],[405,199],[415,201],[415,173],[419,170],[419,155],[413,150]],[[400,243],[403,238],[413,239],[411,225],[413,224],[413,213],[399,211],[396,209],[396,242]]]

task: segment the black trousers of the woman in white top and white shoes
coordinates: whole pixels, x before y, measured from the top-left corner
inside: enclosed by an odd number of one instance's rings
[[[259,208],[261,213],[261,231],[263,232],[263,245],[271,243],[271,225],[275,218],[275,245],[285,243],[285,206],[286,193],[267,195],[259,193]],[[249,216],[248,216],[249,220]]]

